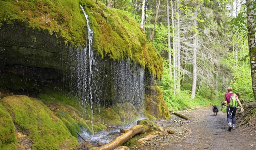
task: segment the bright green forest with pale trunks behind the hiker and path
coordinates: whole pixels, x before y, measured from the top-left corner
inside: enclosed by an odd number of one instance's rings
[[[220,105],[228,86],[243,103],[255,101],[246,4],[255,22],[256,2],[247,1],[96,0],[126,11],[157,48],[164,60],[158,86],[172,110]]]

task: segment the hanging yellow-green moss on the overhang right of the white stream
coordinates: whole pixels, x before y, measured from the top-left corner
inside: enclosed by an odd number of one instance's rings
[[[132,62],[148,68],[150,74],[162,78],[160,54],[148,42],[136,21],[129,18],[127,12],[107,8],[100,3],[96,6],[88,1],[85,0],[85,8],[94,30],[94,48],[98,54],[113,60],[130,58]]]

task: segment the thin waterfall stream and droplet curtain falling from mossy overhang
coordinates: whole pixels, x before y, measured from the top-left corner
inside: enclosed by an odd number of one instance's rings
[[[71,94],[82,100],[80,105],[90,107],[90,112],[85,109],[87,112],[84,112],[84,118],[89,119],[90,116],[92,124],[94,114],[100,114],[99,108],[111,108],[116,104],[132,105],[137,117],[143,117],[144,68],[138,63],[131,63],[129,58],[120,61],[114,61],[108,56],[99,58],[92,48],[93,31],[89,16],[80,7],[87,22],[88,41],[86,47],[70,47],[70,58],[66,61],[70,62],[70,66],[64,69],[68,70],[64,73],[64,84]],[[135,118],[123,118],[122,121],[130,124],[129,119],[134,121]]]

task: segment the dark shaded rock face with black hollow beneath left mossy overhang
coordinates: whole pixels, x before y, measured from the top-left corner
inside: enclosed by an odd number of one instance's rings
[[[14,91],[32,91],[46,84],[59,85],[69,48],[46,31],[20,24],[0,28],[0,86]],[[56,84],[56,85],[54,85]]]

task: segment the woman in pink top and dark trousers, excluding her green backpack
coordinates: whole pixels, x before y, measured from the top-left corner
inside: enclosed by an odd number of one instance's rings
[[[240,100],[238,99],[238,96],[236,94],[233,93],[233,89],[232,87],[228,87],[228,93],[225,94],[225,101],[222,102],[222,104],[226,104],[227,103],[227,120],[228,120],[228,131],[231,131],[231,129],[235,129],[236,128],[236,107],[230,107],[230,98],[231,96],[235,96],[236,100],[239,104],[239,106],[241,107],[241,111],[244,112],[244,108],[240,102]],[[231,118],[232,118],[232,123],[231,123]]]

